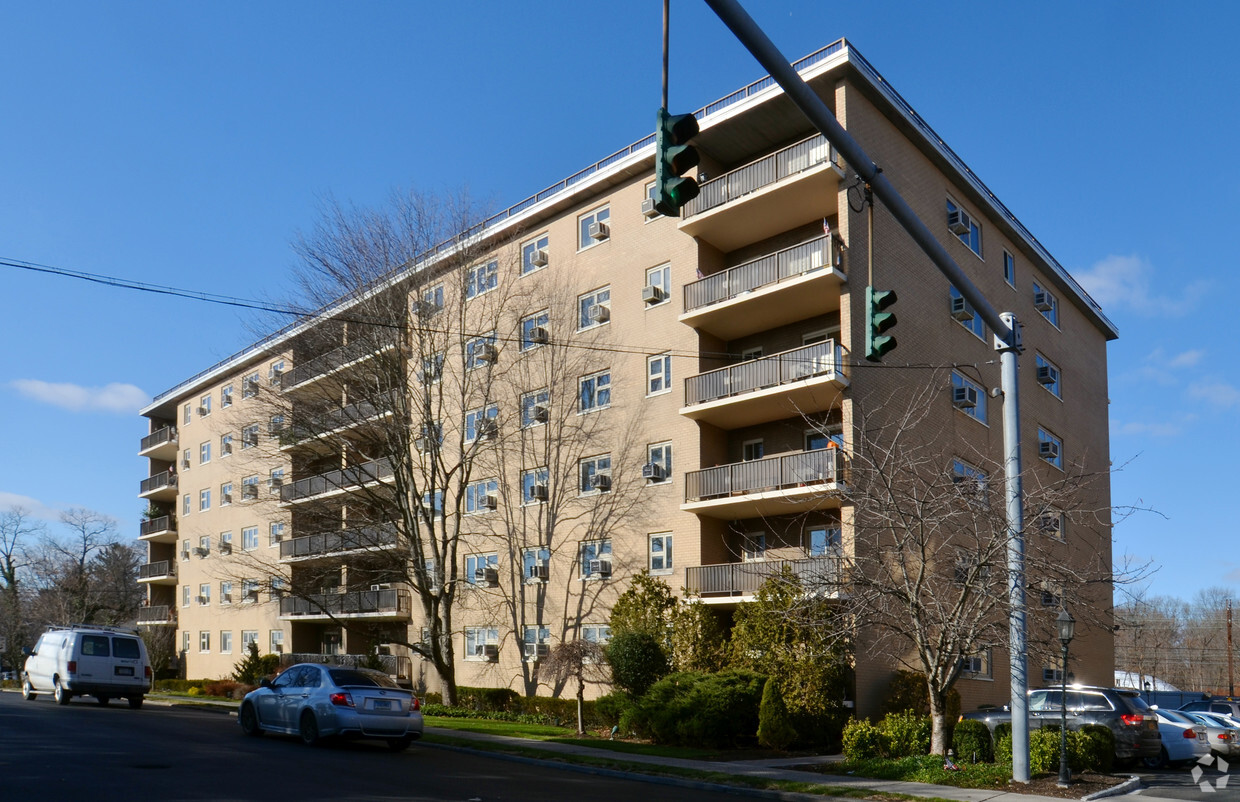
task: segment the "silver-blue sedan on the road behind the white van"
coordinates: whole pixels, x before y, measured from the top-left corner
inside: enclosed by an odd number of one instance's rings
[[[314,746],[330,736],[376,738],[402,751],[422,738],[412,690],[368,668],[298,663],[246,694],[237,714],[247,735],[285,733]]]

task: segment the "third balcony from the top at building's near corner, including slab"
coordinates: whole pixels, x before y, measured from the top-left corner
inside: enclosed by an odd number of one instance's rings
[[[833,340],[684,379],[681,414],[739,429],[839,405],[848,387],[843,346]]]

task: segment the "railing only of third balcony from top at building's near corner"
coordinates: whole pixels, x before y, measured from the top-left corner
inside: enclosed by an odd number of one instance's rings
[[[844,348],[835,340],[792,348],[684,379],[684,405],[751,393],[827,373],[843,374]]]

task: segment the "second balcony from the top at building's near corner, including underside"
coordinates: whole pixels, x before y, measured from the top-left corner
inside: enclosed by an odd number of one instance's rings
[[[680,321],[737,340],[838,311],[838,257],[835,242],[818,237],[686,284]]]

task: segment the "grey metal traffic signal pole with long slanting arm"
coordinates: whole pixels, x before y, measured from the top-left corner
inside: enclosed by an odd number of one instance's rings
[[[892,217],[918,243],[939,270],[947,276],[965,300],[972,304],[977,315],[1002,342],[1001,363],[1003,373],[1003,440],[1004,465],[1007,470],[1007,528],[1008,528],[1008,600],[1011,604],[1011,666],[1012,666],[1012,778],[1017,782],[1029,781],[1029,719],[1025,704],[1028,678],[1025,676],[1025,617],[1024,617],[1024,514],[1021,493],[1021,425],[1017,397],[1017,353],[1019,352],[1019,333],[1013,325],[1014,316],[1001,316],[981,290],[973,286],[960,265],[952,260],[946,249],[935,239],[930,229],[905,203],[900,193],[887,180],[882,170],[866,154],[862,146],[843,129],[827,108],[827,104],[810,89],[801,76],[792,68],[787,58],[770,41],[766,33],[753,21],[737,0],[706,0],[724,25],[735,35],[745,50],[758,59],[758,63],[770,73],[802,114],[818,129],[828,143],[843,156],[844,161],[861,178],[870,186],[874,195],[887,206]],[[1007,320],[1004,320],[1007,317]]]

